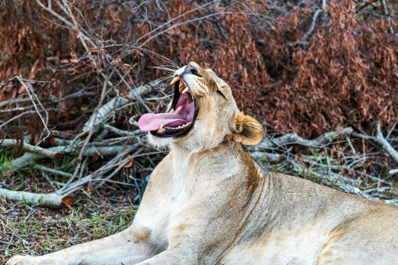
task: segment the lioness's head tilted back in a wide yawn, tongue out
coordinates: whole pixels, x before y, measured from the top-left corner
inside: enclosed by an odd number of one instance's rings
[[[165,113],[145,114],[138,125],[149,131],[151,144],[199,151],[222,141],[258,144],[262,125],[238,110],[231,88],[211,69],[195,62],[174,74],[174,96]]]

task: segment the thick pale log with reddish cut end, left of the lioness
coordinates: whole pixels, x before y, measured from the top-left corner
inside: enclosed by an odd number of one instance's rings
[[[47,208],[63,208],[73,205],[71,196],[61,196],[53,193],[32,193],[26,191],[14,191],[0,188],[0,197],[6,201],[25,202]]]

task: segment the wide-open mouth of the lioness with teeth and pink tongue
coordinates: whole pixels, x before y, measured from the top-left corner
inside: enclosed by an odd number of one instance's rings
[[[143,131],[150,131],[156,137],[177,137],[185,135],[195,123],[197,98],[193,97],[188,85],[181,77],[172,81],[174,95],[172,106],[166,113],[147,113],[138,120]]]

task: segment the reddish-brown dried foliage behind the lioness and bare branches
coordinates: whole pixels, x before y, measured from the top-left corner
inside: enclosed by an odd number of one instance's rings
[[[96,106],[98,96],[93,94],[99,95],[102,86],[98,70],[117,65],[130,74],[129,85],[147,83],[165,76],[148,68],[156,65],[153,60],[160,61],[155,55],[162,54],[182,65],[188,61],[214,65],[234,89],[239,107],[279,131],[314,137],[346,125],[369,131],[379,119],[388,128],[397,120],[398,37],[387,34],[386,20],[357,15],[359,6],[350,0],[328,2],[326,14],[319,14],[308,35],[321,3],[295,7],[265,0],[240,4],[170,0],[164,6],[122,2],[74,2],[81,11],[80,16],[73,10],[81,32],[100,47],[86,42],[88,53],[79,32],[36,1],[6,1],[0,47],[8,52],[1,57],[0,83],[15,75],[48,81],[33,86],[52,109],[49,124],[78,130],[91,114],[86,110]],[[52,8],[65,16],[55,3]],[[111,81],[118,84],[116,77]],[[90,96],[57,102],[82,88]],[[121,93],[126,89],[118,88]],[[0,92],[0,102],[22,97],[23,87],[15,80]],[[19,113],[0,117],[7,120]],[[33,135],[42,129],[35,115],[26,114],[10,125],[24,125],[24,131]]]

